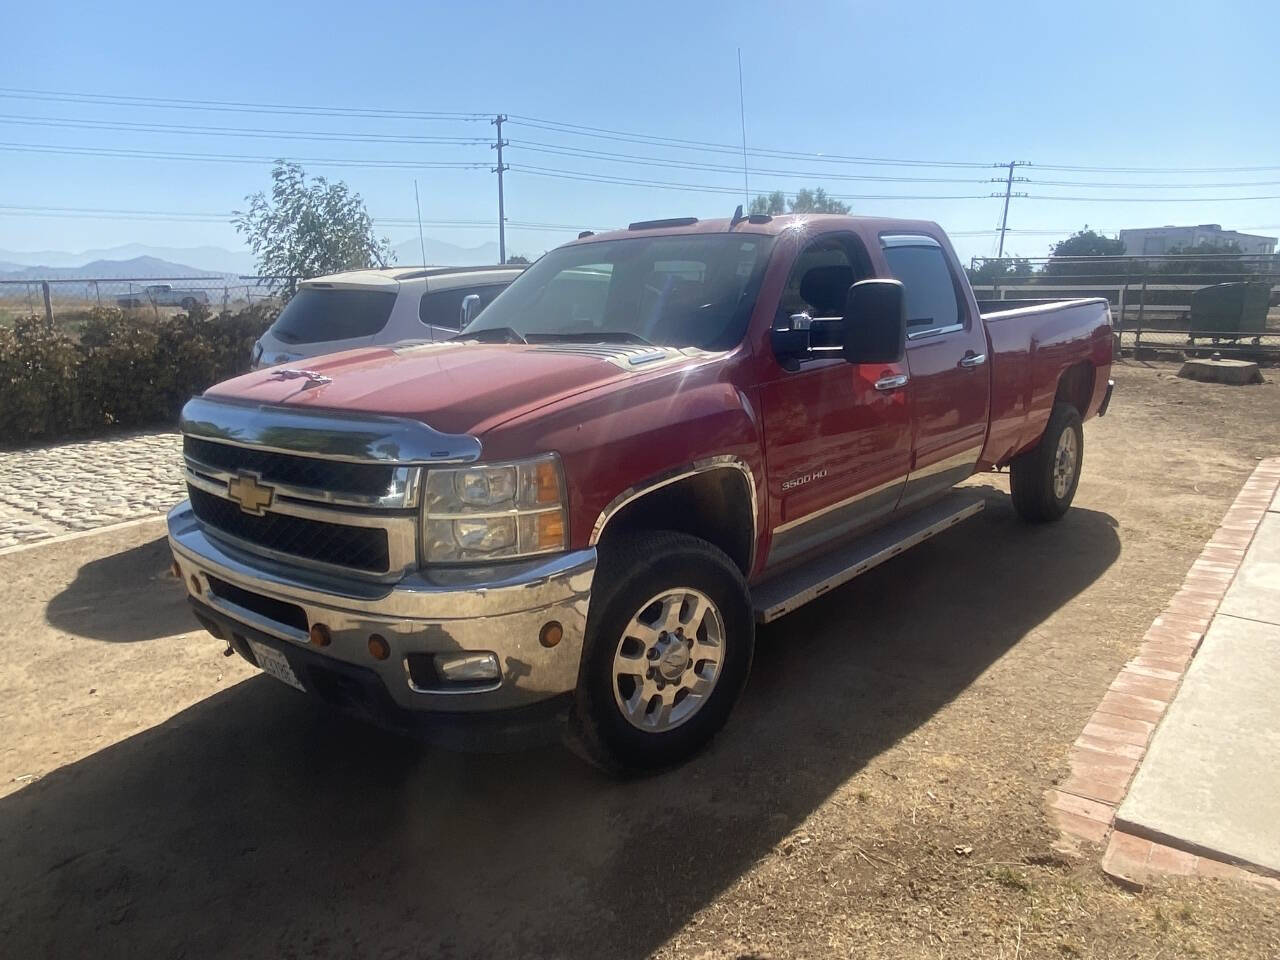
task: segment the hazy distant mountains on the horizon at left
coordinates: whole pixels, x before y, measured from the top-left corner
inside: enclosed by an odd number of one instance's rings
[[[396,264],[417,266],[422,262],[439,266],[480,266],[498,262],[498,244],[460,247],[428,237],[397,243]],[[0,280],[114,279],[131,276],[250,276],[256,271],[248,251],[223,247],[151,247],[125,243],[119,247],[86,250],[72,253],[63,250],[19,252],[0,250]]]

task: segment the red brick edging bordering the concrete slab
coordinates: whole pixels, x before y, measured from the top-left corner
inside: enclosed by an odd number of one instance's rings
[[[1114,828],[1156,724],[1235,579],[1244,553],[1280,488],[1280,457],[1254,468],[1222,524],[1204,544],[1181,588],[1142,639],[1138,655],[1111,681],[1070,749],[1071,776],[1044,791],[1050,820],[1062,833],[1106,844],[1102,869],[1140,886],[1153,873],[1234,877],[1280,890],[1280,882]]]

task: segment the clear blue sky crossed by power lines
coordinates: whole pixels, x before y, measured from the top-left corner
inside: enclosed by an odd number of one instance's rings
[[[1221,223],[1276,236],[1280,200],[1280,5],[1270,3],[666,3],[644,4],[14,4],[5,14],[0,86],[73,93],[303,104],[357,110],[503,111],[590,128],[712,143],[740,142],[736,49],[742,50],[753,150],[892,159],[1028,160],[1019,175],[1080,187],[1018,184],[1010,227],[1069,232]],[[14,118],[38,118],[40,124]],[[106,125],[47,125],[46,120]],[[484,146],[325,142],[119,129],[182,124],[238,131],[490,137],[486,122],[297,116],[0,97],[0,143],[73,148],[490,163]],[[620,142],[512,124],[507,160],[593,177],[740,191],[741,156]],[[728,165],[686,170],[572,155],[577,148]],[[908,198],[987,195],[1000,170],[823,164],[751,156],[751,192],[822,184],[856,212],[923,216],[948,230],[992,230],[1000,201]],[[1111,168],[1266,168],[1231,173],[1105,173]],[[375,218],[413,216],[413,178],[428,220],[493,220],[483,170],[329,168]],[[841,175],[936,177],[892,183]],[[790,173],[797,172],[797,173]],[[223,214],[268,184],[269,165],[59,155],[0,148],[0,205]],[[1098,184],[1166,184],[1102,187]],[[1174,186],[1242,184],[1257,186]],[[1133,202],[1132,197],[1166,198]],[[1171,202],[1170,197],[1219,197]],[[634,219],[724,216],[740,195],[507,177],[512,220],[609,227]],[[1265,229],[1262,229],[1265,228]],[[399,242],[408,225],[387,225]],[[477,244],[495,228],[428,229]],[[572,234],[508,230],[508,250],[536,255]],[[1012,233],[1006,252],[1039,256],[1055,239]],[[142,242],[239,246],[219,221],[15,215],[0,209],[0,248],[83,250]],[[964,256],[993,252],[989,234],[957,236]]]

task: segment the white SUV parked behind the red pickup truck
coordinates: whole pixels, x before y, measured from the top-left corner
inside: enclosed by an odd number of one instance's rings
[[[524,266],[399,266],[302,280],[253,344],[252,367],[355,347],[448,339]]]

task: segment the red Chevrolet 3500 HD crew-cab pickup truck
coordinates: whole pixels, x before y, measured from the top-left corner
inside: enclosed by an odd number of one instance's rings
[[[169,516],[200,621],[396,728],[567,718],[616,771],[724,723],[755,625],[980,509],[1068,509],[1102,300],[980,312],[933,223],[658,220],[562,246],[456,339],[219,384]],[[425,723],[424,723],[425,722]]]

